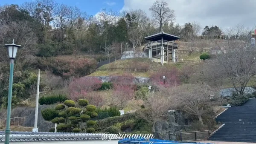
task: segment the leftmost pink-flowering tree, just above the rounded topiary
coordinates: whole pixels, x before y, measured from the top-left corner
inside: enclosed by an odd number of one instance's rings
[[[102,82],[95,77],[76,78],[69,85],[70,99],[77,100],[79,98],[85,98],[88,92],[97,90],[101,86]]]

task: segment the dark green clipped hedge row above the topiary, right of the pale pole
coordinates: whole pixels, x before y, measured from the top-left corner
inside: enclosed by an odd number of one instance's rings
[[[56,103],[62,103],[67,100],[66,95],[61,94],[53,94],[49,96],[43,96],[39,98],[39,104],[40,105],[49,105],[49,104],[56,104]]]

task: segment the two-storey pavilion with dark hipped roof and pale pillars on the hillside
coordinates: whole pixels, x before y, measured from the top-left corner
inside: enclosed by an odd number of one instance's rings
[[[178,44],[175,40],[180,37],[170,35],[163,30],[161,32],[144,37],[145,40],[149,40],[149,43],[145,46],[144,52],[148,52],[148,58],[153,59],[156,62],[169,63],[177,61],[176,51]]]

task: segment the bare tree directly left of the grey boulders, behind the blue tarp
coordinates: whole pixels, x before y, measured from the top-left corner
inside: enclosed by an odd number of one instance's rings
[[[155,123],[161,119],[172,104],[161,92],[149,92],[144,103],[145,109],[137,111],[138,117],[152,124],[152,132],[155,132]]]

